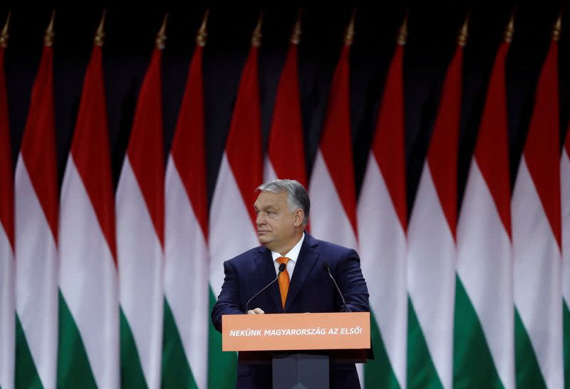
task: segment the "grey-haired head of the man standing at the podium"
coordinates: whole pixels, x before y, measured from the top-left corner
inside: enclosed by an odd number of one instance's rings
[[[257,191],[257,239],[269,250],[284,255],[299,242],[309,221],[309,195],[294,180],[268,181]]]

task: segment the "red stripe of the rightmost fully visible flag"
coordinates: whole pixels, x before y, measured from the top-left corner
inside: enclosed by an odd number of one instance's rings
[[[537,84],[524,158],[556,242],[561,247],[558,105],[558,46],[552,41]]]

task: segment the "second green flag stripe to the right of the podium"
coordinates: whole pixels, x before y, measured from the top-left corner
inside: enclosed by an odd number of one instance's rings
[[[443,388],[408,296],[408,388]]]

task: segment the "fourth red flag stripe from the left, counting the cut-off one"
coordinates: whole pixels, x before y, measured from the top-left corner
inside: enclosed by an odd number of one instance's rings
[[[155,48],[140,87],[127,154],[156,235],[164,246],[165,162],[162,145],[161,58],[162,51]]]

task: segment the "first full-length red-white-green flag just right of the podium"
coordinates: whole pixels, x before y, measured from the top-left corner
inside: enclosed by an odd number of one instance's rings
[[[358,201],[358,240],[363,275],[369,280],[375,354],[364,368],[366,388],[406,387],[403,53],[400,43],[388,68]]]

